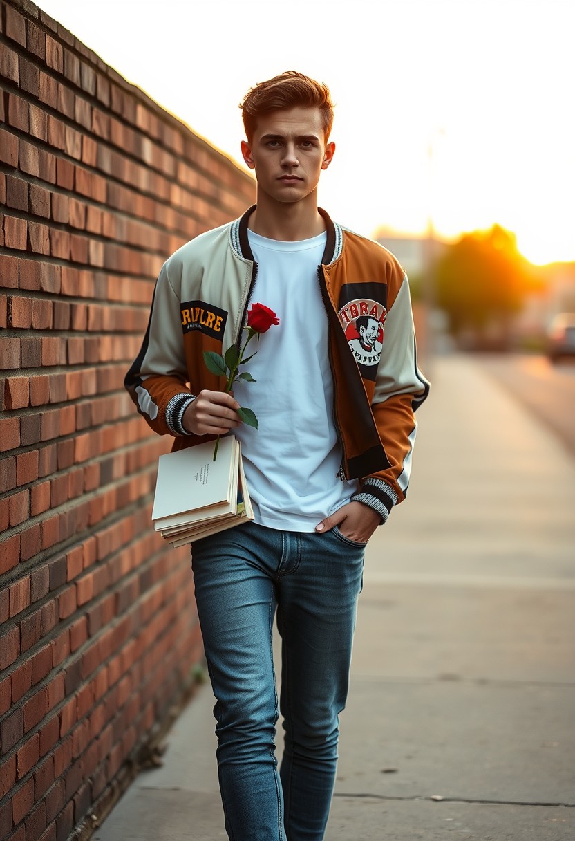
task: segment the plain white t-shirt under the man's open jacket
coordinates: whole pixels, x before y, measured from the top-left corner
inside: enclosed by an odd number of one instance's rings
[[[251,303],[265,304],[280,320],[253,338],[242,371],[256,383],[235,383],[241,406],[254,410],[259,428],[242,424],[245,477],[257,523],[313,532],[319,521],[349,502],[356,481],[341,481],[340,444],[333,420],[328,320],[318,266],[326,235],[283,242],[248,231],[258,270]],[[244,334],[245,335],[245,334]]]

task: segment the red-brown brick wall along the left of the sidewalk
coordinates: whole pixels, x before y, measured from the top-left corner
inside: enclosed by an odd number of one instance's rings
[[[87,837],[193,685],[189,553],[122,381],[162,262],[254,182],[29,0],[0,17],[0,838]]]

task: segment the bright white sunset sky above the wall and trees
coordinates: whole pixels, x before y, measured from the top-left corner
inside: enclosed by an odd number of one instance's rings
[[[575,260],[572,0],[39,5],[237,161],[248,87],[290,69],[326,82],[319,201],[353,230],[498,222],[532,262]]]

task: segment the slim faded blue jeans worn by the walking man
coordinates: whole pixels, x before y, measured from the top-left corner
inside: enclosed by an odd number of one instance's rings
[[[321,841],[335,783],[364,546],[246,523],[193,545],[231,841]],[[282,636],[279,774],[272,626]]]

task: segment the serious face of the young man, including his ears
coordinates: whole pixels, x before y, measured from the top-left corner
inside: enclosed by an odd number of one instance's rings
[[[258,196],[277,202],[301,201],[318,186],[330,166],[335,143],[327,143],[319,108],[289,108],[257,120],[250,141],[243,141],[245,163],[256,171]]]

